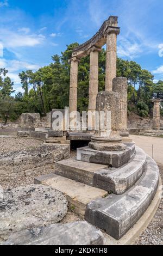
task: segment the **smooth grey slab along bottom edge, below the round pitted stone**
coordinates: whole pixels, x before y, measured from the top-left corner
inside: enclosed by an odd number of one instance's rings
[[[104,245],[102,232],[86,221],[23,230],[4,245]]]

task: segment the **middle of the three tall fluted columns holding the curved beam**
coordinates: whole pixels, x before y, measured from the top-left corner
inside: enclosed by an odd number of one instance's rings
[[[90,84],[89,111],[96,111],[96,97],[98,94],[98,55],[101,49],[92,47],[90,51]]]

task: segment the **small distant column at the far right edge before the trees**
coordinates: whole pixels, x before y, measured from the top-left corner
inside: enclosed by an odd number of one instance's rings
[[[160,130],[160,102],[162,100],[155,99],[153,100],[153,130]]]

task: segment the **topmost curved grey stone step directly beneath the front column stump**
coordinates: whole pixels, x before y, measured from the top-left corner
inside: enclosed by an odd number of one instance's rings
[[[91,163],[101,163],[112,167],[120,167],[127,163],[135,153],[135,143],[126,143],[123,151],[98,151],[89,147],[77,149],[77,160]]]

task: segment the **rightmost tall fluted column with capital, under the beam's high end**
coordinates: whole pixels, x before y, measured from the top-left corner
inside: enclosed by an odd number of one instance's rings
[[[117,34],[119,29],[112,29],[106,36],[106,75],[105,91],[112,91],[112,80],[116,77],[117,71]]]

